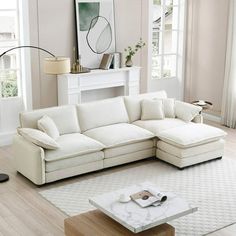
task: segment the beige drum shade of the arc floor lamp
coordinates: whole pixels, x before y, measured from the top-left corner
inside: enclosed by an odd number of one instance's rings
[[[68,57],[45,58],[44,73],[51,75],[70,73],[70,58]]]

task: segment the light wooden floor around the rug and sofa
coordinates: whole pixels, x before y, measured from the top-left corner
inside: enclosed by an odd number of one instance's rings
[[[215,125],[215,124],[213,124]],[[217,126],[217,125],[216,125]],[[228,133],[225,157],[236,160],[236,130],[221,127]],[[120,170],[117,167],[112,171]],[[110,170],[111,171],[111,170]],[[63,221],[66,215],[43,199],[38,191],[67,183],[82,181],[101,172],[83,175],[36,187],[20,174],[16,173],[11,147],[0,149],[0,172],[10,175],[10,181],[0,184],[0,235],[64,235]],[[211,236],[235,236],[236,225],[217,231]]]

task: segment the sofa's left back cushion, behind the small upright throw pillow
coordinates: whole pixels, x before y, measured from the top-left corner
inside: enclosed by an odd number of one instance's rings
[[[21,127],[37,129],[37,122],[44,115],[54,121],[60,135],[80,132],[76,108],[72,105],[22,112],[20,113]]]

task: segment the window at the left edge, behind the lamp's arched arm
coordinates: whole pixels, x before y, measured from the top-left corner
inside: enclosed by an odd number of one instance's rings
[[[0,0],[0,54],[20,44],[19,1]],[[0,97],[19,96],[20,51],[13,50],[0,58]]]

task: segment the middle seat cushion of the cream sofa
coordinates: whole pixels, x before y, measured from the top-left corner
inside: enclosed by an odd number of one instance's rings
[[[137,143],[154,137],[151,132],[127,123],[91,129],[84,135],[101,142],[106,148]]]

